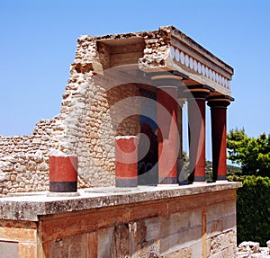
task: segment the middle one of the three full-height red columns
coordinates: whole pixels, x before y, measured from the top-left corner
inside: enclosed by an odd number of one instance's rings
[[[188,99],[189,182],[205,182],[205,99],[208,90],[191,92]]]

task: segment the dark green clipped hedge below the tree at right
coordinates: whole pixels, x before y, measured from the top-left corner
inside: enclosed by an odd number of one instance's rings
[[[243,183],[237,194],[238,244],[252,240],[265,246],[270,237],[270,178],[233,175],[229,181]]]

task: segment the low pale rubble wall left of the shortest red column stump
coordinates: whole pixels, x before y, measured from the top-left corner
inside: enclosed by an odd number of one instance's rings
[[[0,136],[0,194],[49,188],[49,151],[60,118],[40,120],[30,136]]]

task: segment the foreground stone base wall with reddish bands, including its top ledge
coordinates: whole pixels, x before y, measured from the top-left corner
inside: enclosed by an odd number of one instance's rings
[[[89,190],[67,200],[8,197],[0,203],[0,245],[21,251],[11,258],[236,257],[238,186]],[[20,214],[11,212],[15,207]]]

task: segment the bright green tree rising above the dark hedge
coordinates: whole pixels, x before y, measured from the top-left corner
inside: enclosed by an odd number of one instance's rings
[[[242,174],[270,175],[270,134],[247,137],[245,129],[233,129],[227,136],[229,160],[242,168]]]

